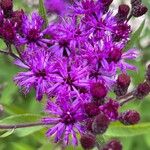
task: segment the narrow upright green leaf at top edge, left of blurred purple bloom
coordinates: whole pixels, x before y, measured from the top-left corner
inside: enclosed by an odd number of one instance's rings
[[[48,19],[47,19],[46,9],[45,9],[43,0],[39,0],[39,14],[42,16],[42,18],[45,21],[45,24],[43,27],[45,29],[48,25]]]

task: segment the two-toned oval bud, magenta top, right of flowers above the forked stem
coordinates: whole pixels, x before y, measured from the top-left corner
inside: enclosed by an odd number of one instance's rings
[[[117,83],[114,87],[114,92],[117,96],[123,96],[127,93],[131,79],[127,74],[120,74],[117,79]]]

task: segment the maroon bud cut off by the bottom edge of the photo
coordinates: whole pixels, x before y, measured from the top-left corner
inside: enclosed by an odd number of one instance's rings
[[[118,140],[111,140],[102,150],[122,150],[122,145]]]

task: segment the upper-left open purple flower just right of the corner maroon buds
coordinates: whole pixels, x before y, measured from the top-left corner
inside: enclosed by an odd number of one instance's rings
[[[31,17],[24,15],[22,22],[22,36],[18,35],[19,45],[39,45],[46,47],[50,43],[44,36],[47,30],[43,30],[44,20],[37,13],[32,13]]]

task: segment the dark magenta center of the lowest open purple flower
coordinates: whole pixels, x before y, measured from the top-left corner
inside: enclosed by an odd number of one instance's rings
[[[65,124],[74,124],[75,119],[73,117],[73,114],[69,111],[64,113],[63,116],[62,116],[62,122],[65,123]]]

